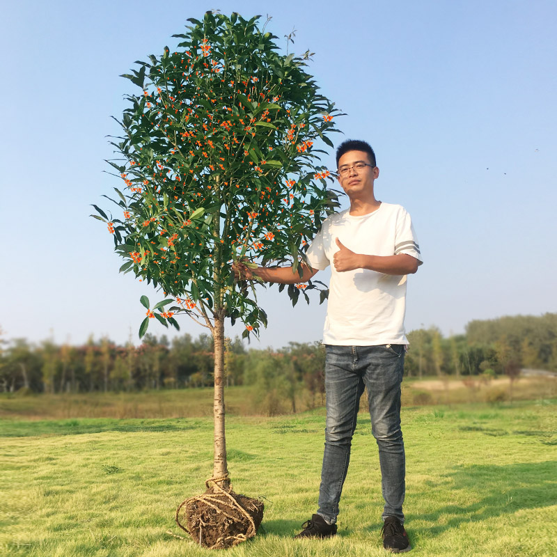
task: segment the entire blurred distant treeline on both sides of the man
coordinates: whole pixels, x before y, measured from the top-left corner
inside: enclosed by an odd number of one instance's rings
[[[463,335],[444,338],[439,329],[409,333],[405,372],[411,377],[506,374],[521,368],[557,371],[557,313],[475,320]],[[295,411],[300,386],[309,406],[323,396],[324,350],[320,343],[290,343],[281,350],[246,350],[240,338],[226,341],[228,385],[258,386],[265,407],[290,400]],[[81,346],[46,340],[1,340],[0,391],[44,393],[178,389],[212,385],[212,337],[146,335],[139,347],[109,338]],[[280,394],[280,396],[279,396]]]

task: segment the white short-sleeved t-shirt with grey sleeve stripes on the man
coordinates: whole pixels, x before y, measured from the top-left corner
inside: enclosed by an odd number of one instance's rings
[[[353,216],[347,209],[327,217],[306,252],[313,269],[331,265],[334,253],[340,249],[336,238],[355,253],[407,253],[422,263],[410,215],[400,205],[381,203],[377,210],[362,216]],[[323,344],[407,344],[406,278],[368,269],[337,272],[332,265]]]

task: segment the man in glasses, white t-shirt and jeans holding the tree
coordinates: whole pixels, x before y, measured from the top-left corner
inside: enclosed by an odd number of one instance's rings
[[[296,538],[336,534],[340,493],[350,460],[359,399],[368,388],[372,434],[379,446],[385,500],[383,545],[411,549],[403,526],[405,450],[400,430],[400,382],[407,338],[404,329],[407,274],[422,259],[409,214],[377,201],[375,153],[364,141],[345,141],[336,152],[338,181],[350,209],[328,217],[306,252],[303,276],[292,267],[239,265],[237,275],[299,283],[332,264],[323,344],[327,426],[319,508]]]

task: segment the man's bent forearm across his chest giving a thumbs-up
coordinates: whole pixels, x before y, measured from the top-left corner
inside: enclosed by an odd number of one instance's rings
[[[399,253],[398,256],[366,256],[354,253],[338,238],[336,244],[340,250],[334,254],[333,264],[338,272],[369,269],[384,274],[411,274],[418,270],[418,260],[407,253]]]

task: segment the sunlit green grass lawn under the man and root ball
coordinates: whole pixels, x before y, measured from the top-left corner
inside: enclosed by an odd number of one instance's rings
[[[551,556],[557,400],[403,409],[416,556]],[[361,413],[332,540],[292,540],[315,512],[324,411],[228,418],[235,491],[265,497],[262,530],[226,554],[384,556],[377,446]],[[173,521],[212,472],[210,418],[0,421],[3,557],[208,556]]]

